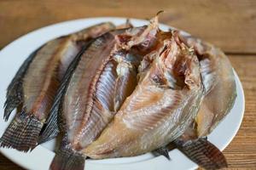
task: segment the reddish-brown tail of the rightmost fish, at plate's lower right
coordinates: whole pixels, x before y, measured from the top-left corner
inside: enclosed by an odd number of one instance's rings
[[[175,144],[178,150],[181,150],[183,154],[200,167],[205,169],[228,167],[223,153],[206,138],[189,140],[187,142],[175,140]]]

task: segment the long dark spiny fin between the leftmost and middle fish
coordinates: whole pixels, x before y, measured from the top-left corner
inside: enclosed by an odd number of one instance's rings
[[[61,118],[62,116],[59,115],[61,114],[62,98],[67,90],[67,85],[70,78],[73,75],[73,71],[75,70],[76,66],[79,64],[79,60],[82,54],[84,54],[84,51],[86,50],[86,48],[89,47],[90,43],[91,41],[88,42],[86,45],[84,45],[84,48],[81,49],[79,54],[75,57],[75,59],[73,59],[71,64],[68,66],[67,71],[61,80],[60,88],[58,89],[58,92],[55,95],[54,104],[52,105],[49,111],[49,116],[40,133],[39,144],[47,142],[50,139],[54,139],[58,135],[58,133],[62,131],[62,127],[65,124],[65,121],[62,120]]]

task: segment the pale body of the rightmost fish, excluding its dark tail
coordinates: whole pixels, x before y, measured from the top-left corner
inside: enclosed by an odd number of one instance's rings
[[[205,87],[201,109],[196,116],[197,134],[206,136],[224,119],[236,99],[236,82],[230,60],[218,48],[195,37],[185,37],[200,59]]]

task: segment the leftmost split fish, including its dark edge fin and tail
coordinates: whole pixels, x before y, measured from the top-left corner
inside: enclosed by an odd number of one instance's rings
[[[8,88],[5,120],[15,108],[21,111],[3,133],[2,147],[28,151],[38,144],[38,135],[68,65],[86,43],[113,28],[111,23],[102,23],[56,38],[26,59]]]

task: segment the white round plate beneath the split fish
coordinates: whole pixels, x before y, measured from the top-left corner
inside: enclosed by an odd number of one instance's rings
[[[44,42],[49,41],[55,37],[60,37],[73,31],[79,31],[80,29],[95,25],[103,21],[112,21],[114,24],[119,25],[125,22],[125,18],[91,18],[82,20],[71,20],[62,22],[52,26],[46,26],[32,31],[23,37],[18,38],[14,42],[11,42],[7,47],[0,51],[0,112],[3,114],[3,103],[5,101],[6,89],[9,82],[15,76],[15,72],[18,71],[22,62],[26,57],[32,53],[33,50],[43,45]],[[146,20],[131,19],[131,23],[134,26],[143,26],[148,24]],[[160,28],[167,30],[169,26],[160,25]],[[241,87],[241,82],[236,75],[236,91],[237,98],[233,109],[230,114],[226,116],[223,122],[208,136],[208,139],[215,144],[220,150],[230,144],[230,141],[235,137],[240,125],[244,112],[244,94]],[[14,113],[9,118],[12,120]],[[0,118],[0,135],[2,136],[4,130],[8,126],[9,122],[4,122]],[[55,147],[55,141],[49,141],[46,144],[39,145],[35,150],[30,153],[23,153],[13,149],[3,149],[0,151],[4,156],[7,156],[11,161],[19,164],[26,169],[48,169],[49,164],[52,161],[55,153],[52,151]],[[195,169],[197,165],[194,162],[189,161],[186,156],[183,156],[178,150],[170,151],[172,161],[166,160],[164,156],[154,157],[151,154],[145,154],[143,156],[135,156],[130,158],[115,158],[102,161],[88,160],[85,162],[86,170],[169,170],[169,169]]]

